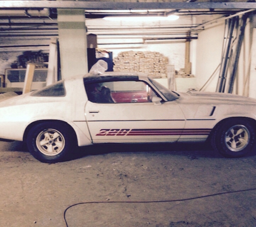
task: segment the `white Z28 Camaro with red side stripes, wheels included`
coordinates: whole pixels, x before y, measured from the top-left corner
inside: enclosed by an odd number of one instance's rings
[[[42,162],[68,160],[98,143],[204,142],[224,157],[255,147],[256,100],[176,93],[144,74],[70,77],[0,102],[0,138],[25,141]]]

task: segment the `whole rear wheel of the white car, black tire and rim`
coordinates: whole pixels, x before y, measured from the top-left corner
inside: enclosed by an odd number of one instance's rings
[[[34,125],[27,133],[26,144],[33,157],[41,162],[68,160],[76,147],[73,130],[59,122]]]

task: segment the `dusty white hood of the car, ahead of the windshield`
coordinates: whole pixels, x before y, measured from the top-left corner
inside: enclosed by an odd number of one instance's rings
[[[227,93],[211,93],[201,91],[188,91],[180,94],[182,98],[196,102],[220,102],[220,103],[247,103],[256,104],[255,98],[248,98],[240,95],[232,95]]]

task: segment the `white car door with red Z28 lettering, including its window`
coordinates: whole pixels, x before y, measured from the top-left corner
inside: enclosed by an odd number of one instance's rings
[[[181,136],[185,118],[178,104],[152,102],[156,93],[143,81],[92,83],[86,91],[93,143],[177,141]]]

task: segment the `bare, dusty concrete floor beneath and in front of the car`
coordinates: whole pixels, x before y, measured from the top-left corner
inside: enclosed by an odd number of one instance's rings
[[[226,159],[201,145],[101,145],[43,164],[22,143],[0,142],[0,162],[0,226],[256,226],[255,154]],[[205,195],[213,196],[196,198]],[[108,203],[115,201],[162,202]]]

